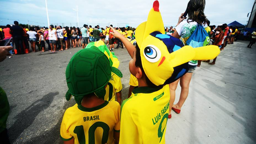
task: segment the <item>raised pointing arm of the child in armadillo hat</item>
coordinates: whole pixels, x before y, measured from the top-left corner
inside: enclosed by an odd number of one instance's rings
[[[110,28],[113,30],[113,33],[111,32],[111,34],[113,34],[113,36],[115,38],[118,38],[122,41],[122,43],[124,44],[124,46],[126,47],[129,55],[131,56],[131,58],[133,58],[133,52],[135,50],[135,47],[132,43],[130,43],[128,41],[128,39],[126,39],[121,33],[119,33],[117,30],[115,30],[112,26],[110,26]]]

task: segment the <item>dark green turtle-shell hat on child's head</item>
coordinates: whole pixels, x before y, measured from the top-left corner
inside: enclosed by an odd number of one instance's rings
[[[79,50],[66,68],[66,100],[70,100],[73,95],[79,105],[87,94],[94,93],[97,97],[104,98],[105,86],[110,78],[111,66],[103,52],[95,46]]]

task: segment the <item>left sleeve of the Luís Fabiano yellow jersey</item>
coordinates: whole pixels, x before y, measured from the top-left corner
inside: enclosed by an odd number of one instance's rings
[[[121,127],[120,127],[120,140],[119,143],[140,143],[139,133],[134,119],[132,116],[133,108],[129,105],[129,100],[122,103],[121,111]],[[124,104],[125,103],[125,104]]]

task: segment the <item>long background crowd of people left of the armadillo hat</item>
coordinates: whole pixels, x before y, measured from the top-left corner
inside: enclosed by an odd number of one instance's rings
[[[126,38],[133,38],[135,28],[132,27],[115,27],[122,35]],[[118,39],[115,39],[110,33],[110,27],[100,28],[99,25],[92,28],[91,25],[84,24],[82,28],[79,27],[63,27],[62,26],[53,26],[48,27],[39,27],[39,26],[30,26],[27,28],[27,25],[19,26],[17,21],[14,21],[14,25],[6,25],[6,28],[1,30],[1,39],[8,39],[13,37],[13,42],[17,50],[17,55],[25,54],[24,49],[29,49],[28,41],[31,44],[31,50],[37,52],[38,50],[44,52],[46,50],[46,44],[48,45],[48,50],[50,52],[63,51],[69,48],[81,47],[84,48],[90,42],[102,40],[107,42],[107,45],[110,45],[110,50],[114,50],[114,44],[118,44],[115,49],[123,47],[123,44]],[[24,43],[24,45],[23,45]],[[11,46],[14,46],[11,42]],[[36,46],[38,50],[36,50]],[[19,47],[19,48],[18,48]],[[14,51],[10,52],[14,54]]]

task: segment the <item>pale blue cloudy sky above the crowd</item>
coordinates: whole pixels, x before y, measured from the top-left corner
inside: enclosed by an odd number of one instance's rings
[[[175,26],[185,12],[189,0],[159,0],[164,26]],[[49,21],[53,25],[77,26],[83,24],[105,27],[108,24],[137,27],[146,21],[154,0],[47,0]],[[30,25],[47,26],[45,0],[0,0],[0,25],[14,20]],[[211,25],[238,21],[246,25],[254,0],[206,0],[205,15]]]

